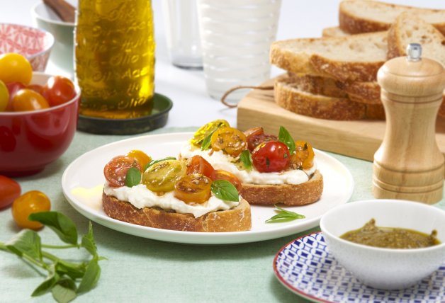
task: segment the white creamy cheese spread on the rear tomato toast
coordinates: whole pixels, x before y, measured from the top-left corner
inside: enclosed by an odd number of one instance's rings
[[[289,171],[278,171],[272,173],[260,173],[254,167],[250,171],[241,171],[237,168],[235,164],[232,163],[233,157],[224,154],[223,151],[213,151],[210,155],[211,150],[201,151],[191,144],[187,143],[181,149],[182,158],[191,158],[192,156],[199,155],[212,164],[215,169],[223,169],[229,171],[237,176],[242,183],[254,183],[254,184],[301,184],[309,180],[308,176],[315,173],[317,166],[314,161],[314,165],[310,169],[300,170],[291,169]]]

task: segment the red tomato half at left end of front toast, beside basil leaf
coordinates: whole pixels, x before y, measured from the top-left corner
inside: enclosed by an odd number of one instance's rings
[[[140,170],[140,165],[135,158],[115,156],[103,168],[103,175],[111,186],[121,187],[125,185],[125,176],[127,176],[127,171],[132,167]]]

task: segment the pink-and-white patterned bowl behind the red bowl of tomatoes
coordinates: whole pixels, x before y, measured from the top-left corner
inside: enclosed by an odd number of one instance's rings
[[[0,23],[0,54],[17,52],[25,56],[35,72],[45,71],[53,45],[54,36],[45,30]]]

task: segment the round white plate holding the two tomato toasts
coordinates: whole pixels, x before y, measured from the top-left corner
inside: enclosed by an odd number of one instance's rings
[[[149,239],[206,245],[248,243],[296,234],[316,227],[320,222],[320,217],[327,210],[344,204],[351,198],[354,181],[349,170],[337,159],[316,150],[317,166],[325,184],[322,198],[311,205],[285,207],[287,210],[305,215],[305,219],[285,223],[265,223],[266,219],[276,215],[274,207],[252,205],[252,229],[250,231],[205,233],[143,227],[112,219],[103,212],[101,205],[101,189],[105,183],[103,167],[111,158],[126,154],[131,149],[145,151],[153,159],[177,156],[181,147],[192,135],[191,132],[148,135],[106,144],[89,151],[79,156],[64,171],[62,176],[63,193],[72,207],[82,215],[111,229]]]

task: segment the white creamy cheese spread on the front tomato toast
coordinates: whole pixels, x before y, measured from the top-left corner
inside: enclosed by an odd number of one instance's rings
[[[130,202],[134,207],[139,209],[144,207],[160,207],[164,210],[174,210],[180,214],[192,214],[196,218],[208,212],[230,210],[232,207],[240,204],[240,202],[223,201],[212,195],[210,199],[203,204],[196,203],[189,205],[184,201],[176,199],[173,192],[159,196],[143,184],[131,188],[127,186],[113,188],[106,183],[103,190],[106,195],[112,195],[118,200]]]

